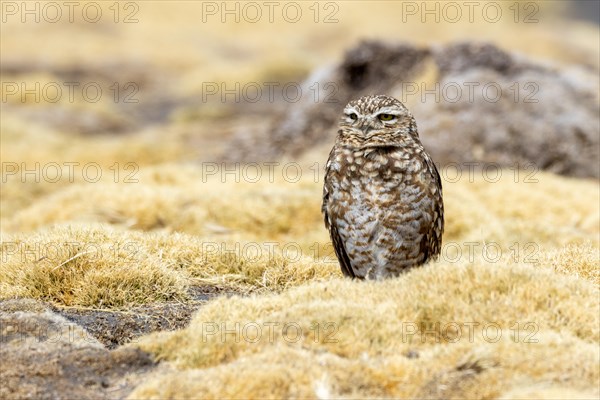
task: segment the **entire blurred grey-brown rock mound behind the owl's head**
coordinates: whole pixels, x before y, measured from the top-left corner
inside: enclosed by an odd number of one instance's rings
[[[433,82],[420,76],[430,65]],[[383,93],[407,103],[439,164],[519,164],[530,171],[600,176],[598,71],[547,66],[491,44],[428,49],[365,41],[339,65],[315,71],[303,91],[311,93],[315,83],[319,98],[304,95],[266,131],[239,135],[227,160],[274,160],[333,143],[344,105]]]

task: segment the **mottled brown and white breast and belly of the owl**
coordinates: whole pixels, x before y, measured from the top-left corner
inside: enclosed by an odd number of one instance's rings
[[[420,243],[436,203],[425,160],[400,151],[345,151],[330,159],[328,171],[328,213],[357,274],[423,260]]]

